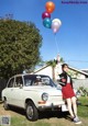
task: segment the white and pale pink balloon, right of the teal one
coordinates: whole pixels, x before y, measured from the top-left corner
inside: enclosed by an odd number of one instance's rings
[[[57,31],[59,30],[61,25],[62,25],[62,21],[59,19],[54,19],[52,21],[52,30],[53,30],[53,32],[57,33]]]

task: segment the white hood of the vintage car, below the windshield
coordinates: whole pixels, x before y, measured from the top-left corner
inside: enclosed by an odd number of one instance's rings
[[[48,85],[45,87],[24,87],[25,91],[34,91],[34,92],[45,92],[48,93],[50,95],[62,95],[61,89],[57,88],[52,88]]]

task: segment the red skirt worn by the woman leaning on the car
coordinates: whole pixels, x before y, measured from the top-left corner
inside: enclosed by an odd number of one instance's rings
[[[75,92],[70,83],[67,83],[65,87],[62,87],[63,99],[69,99],[75,96]]]

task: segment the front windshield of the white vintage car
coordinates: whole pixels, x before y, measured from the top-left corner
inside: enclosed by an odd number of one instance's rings
[[[24,85],[51,85],[56,87],[53,80],[48,76],[36,76],[36,75],[25,75]]]

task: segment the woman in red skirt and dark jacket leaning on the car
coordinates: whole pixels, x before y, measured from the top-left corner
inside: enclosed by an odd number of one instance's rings
[[[72,121],[76,124],[80,124],[81,122],[77,116],[76,94],[73,89],[73,81],[70,76],[67,73],[68,65],[63,64],[62,70],[63,72],[59,75],[59,84],[62,85],[63,99],[66,100]]]

